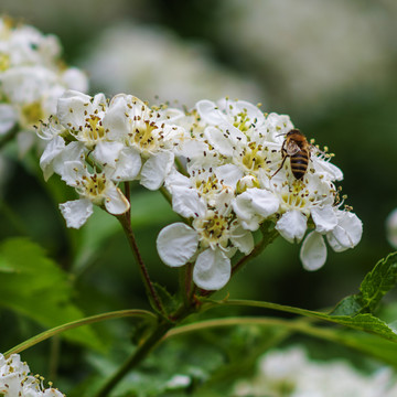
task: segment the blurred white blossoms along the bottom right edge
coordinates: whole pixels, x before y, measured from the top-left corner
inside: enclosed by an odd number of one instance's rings
[[[300,346],[270,351],[258,362],[257,374],[237,382],[238,397],[394,397],[397,379],[389,367],[366,375],[347,361],[310,360]]]

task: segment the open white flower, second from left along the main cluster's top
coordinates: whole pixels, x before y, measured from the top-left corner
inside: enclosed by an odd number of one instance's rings
[[[118,152],[112,150],[121,158],[117,167],[136,164],[129,172],[116,171],[119,179],[132,180],[139,174],[143,186],[159,189],[171,172],[174,144],[185,136],[183,128],[172,124],[170,111],[152,109],[137,97],[120,94],[112,98],[104,125],[107,139],[120,143]]]

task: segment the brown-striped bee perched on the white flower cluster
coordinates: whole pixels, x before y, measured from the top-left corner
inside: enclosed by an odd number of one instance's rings
[[[302,180],[309,165],[312,144],[310,144],[304,135],[298,129],[291,129],[286,133],[282,142],[281,154],[282,162],[280,168],[272,174],[275,176],[281,169],[287,158],[290,158],[291,171],[297,180]],[[272,178],[271,176],[271,178]]]

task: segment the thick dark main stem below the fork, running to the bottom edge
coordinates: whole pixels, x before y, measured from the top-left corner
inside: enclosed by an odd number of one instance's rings
[[[105,397],[110,390],[129,373],[131,368],[142,362],[142,360],[161,342],[167,332],[173,328],[174,324],[170,322],[161,322],[153,331],[153,333],[127,358],[118,372],[110,377],[107,383],[100,388],[95,397]]]

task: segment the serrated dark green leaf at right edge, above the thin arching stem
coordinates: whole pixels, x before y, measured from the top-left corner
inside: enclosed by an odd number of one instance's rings
[[[343,299],[334,309],[334,315],[373,313],[382,298],[397,282],[397,253],[380,259],[364,278],[360,292]]]

